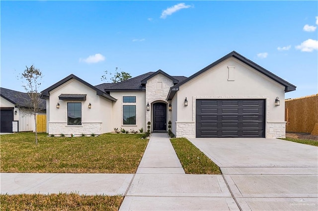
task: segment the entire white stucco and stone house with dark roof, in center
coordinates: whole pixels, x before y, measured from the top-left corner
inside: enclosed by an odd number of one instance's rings
[[[232,52],[186,78],[162,70],[92,86],[69,75],[42,92],[49,134],[114,128],[177,137],[285,137],[285,92],[296,87]],[[280,106],[275,101],[280,100]]]

